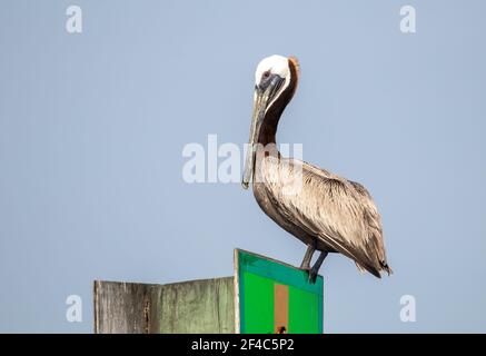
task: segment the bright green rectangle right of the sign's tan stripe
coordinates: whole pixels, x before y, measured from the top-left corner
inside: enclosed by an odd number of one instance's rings
[[[317,294],[289,287],[288,332],[294,334],[319,334],[319,298]]]

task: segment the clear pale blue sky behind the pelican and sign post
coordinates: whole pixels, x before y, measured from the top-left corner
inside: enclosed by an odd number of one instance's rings
[[[0,332],[89,333],[93,279],[229,276],[235,247],[300,264],[250,191],[181,178],[186,144],[247,140],[254,71],[274,53],[301,65],[278,140],[368,187],[395,270],[330,255],[325,330],[484,332],[485,16],[479,0],[2,1]]]

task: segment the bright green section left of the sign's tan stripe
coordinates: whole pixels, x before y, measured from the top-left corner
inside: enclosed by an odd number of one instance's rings
[[[244,273],[245,299],[241,333],[268,334],[274,332],[274,280]]]

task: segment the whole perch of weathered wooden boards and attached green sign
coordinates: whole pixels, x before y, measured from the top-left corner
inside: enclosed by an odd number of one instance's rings
[[[95,281],[95,333],[323,333],[323,277],[235,250],[235,276],[167,285]]]

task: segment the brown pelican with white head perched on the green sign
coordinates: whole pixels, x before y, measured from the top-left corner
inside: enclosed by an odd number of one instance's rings
[[[309,273],[311,281],[328,253],[351,258],[359,270],[378,278],[381,270],[389,275],[380,216],[366,188],[307,162],[284,158],[276,147],[280,116],[299,79],[297,59],[265,58],[255,76],[244,188],[251,179],[260,208],[307,245],[300,268]],[[310,268],[316,250],[320,255]]]

